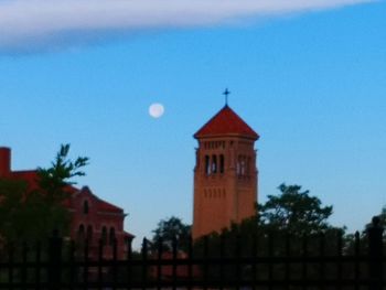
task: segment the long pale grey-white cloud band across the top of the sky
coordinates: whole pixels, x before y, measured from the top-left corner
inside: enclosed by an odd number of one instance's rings
[[[55,47],[149,29],[225,23],[372,0],[0,0],[0,50]]]

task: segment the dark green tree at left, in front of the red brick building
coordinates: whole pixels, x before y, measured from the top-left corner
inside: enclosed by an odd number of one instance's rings
[[[29,190],[25,181],[0,180],[0,237],[2,241],[35,243],[51,236],[53,229],[68,234],[71,216],[64,206],[71,179],[82,176],[87,158],[72,162],[69,144],[61,146],[47,169],[37,169],[37,189]]]

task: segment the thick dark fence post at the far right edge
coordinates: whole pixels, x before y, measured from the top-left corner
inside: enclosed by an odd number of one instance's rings
[[[367,228],[368,237],[368,269],[372,280],[371,290],[382,289],[383,276],[383,232],[378,216],[374,216],[371,226]]]

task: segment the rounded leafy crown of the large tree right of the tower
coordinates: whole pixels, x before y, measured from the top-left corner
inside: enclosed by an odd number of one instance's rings
[[[301,191],[300,185],[282,183],[278,189],[280,195],[268,195],[268,201],[257,206],[259,226],[297,235],[322,233],[330,227],[332,206],[322,206],[318,197]]]

